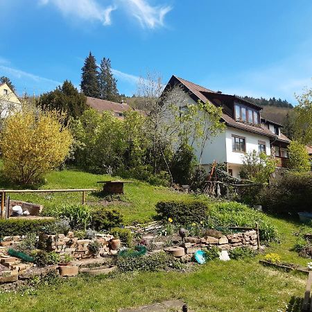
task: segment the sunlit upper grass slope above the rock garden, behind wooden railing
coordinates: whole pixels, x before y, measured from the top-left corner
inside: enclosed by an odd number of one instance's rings
[[[42,189],[101,189],[96,183],[100,180],[111,180],[108,175],[94,175],[81,171],[55,171],[46,175],[47,183]],[[0,189],[4,186],[0,185]],[[150,184],[135,181],[125,184],[125,196],[123,200],[126,205],[110,205],[121,211],[125,216],[125,223],[132,221],[146,222],[155,215],[155,204],[159,200],[182,198],[181,195],[169,191],[165,187],[153,187]],[[46,209],[53,209],[56,205],[63,203],[81,202],[82,193],[12,193],[11,200],[26,200],[44,205]],[[98,202],[98,197],[88,193],[87,202]]]

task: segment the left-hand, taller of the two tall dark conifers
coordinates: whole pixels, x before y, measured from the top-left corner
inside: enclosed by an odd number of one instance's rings
[[[85,59],[81,74],[81,90],[85,96],[92,96],[93,98],[99,98],[100,88],[98,85],[98,67],[96,65],[96,59],[89,53],[89,56]]]

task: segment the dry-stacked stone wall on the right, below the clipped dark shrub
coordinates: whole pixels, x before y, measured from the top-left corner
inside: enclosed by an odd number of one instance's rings
[[[257,232],[250,230],[242,233],[220,235],[218,238],[213,236],[206,236],[201,239],[196,237],[185,237],[184,247],[186,254],[193,254],[203,247],[217,246],[220,250],[232,250],[236,247],[249,247],[257,250]]]

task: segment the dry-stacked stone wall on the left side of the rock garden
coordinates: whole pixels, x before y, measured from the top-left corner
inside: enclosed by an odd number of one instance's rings
[[[110,248],[110,241],[114,236],[107,234],[96,239],[78,239],[73,235],[73,232],[69,232],[67,236],[64,234],[58,235],[49,235],[41,234],[39,236],[39,241],[45,246],[47,251],[55,251],[60,255],[69,254],[71,257],[76,259],[85,259],[93,257],[94,254],[89,251],[88,245],[92,241],[98,241],[101,243],[102,248],[99,252],[99,255],[105,254],[116,254],[117,250],[112,250]]]

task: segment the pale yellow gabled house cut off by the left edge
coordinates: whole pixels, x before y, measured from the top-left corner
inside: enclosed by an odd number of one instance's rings
[[[21,107],[21,101],[6,83],[0,83],[0,118],[6,118]]]

